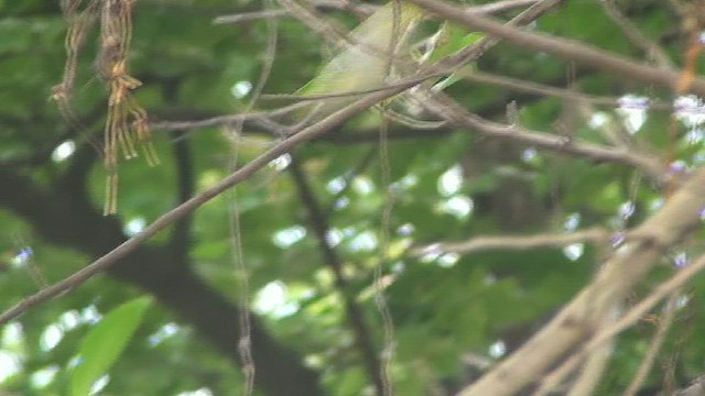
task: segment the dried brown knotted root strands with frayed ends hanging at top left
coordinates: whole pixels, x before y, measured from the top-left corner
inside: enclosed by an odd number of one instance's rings
[[[132,96],[132,90],[142,82],[127,72],[127,55],[132,37],[132,7],[135,0],[89,0],[79,11],[83,0],[62,0],[64,15],[68,21],[66,33],[66,65],[62,82],[53,88],[52,98],[58,102],[64,118],[77,120],[69,106],[74,87],[79,50],[87,31],[100,15],[100,54],[98,69],[107,81],[108,114],[105,127],[104,161],[106,177],[106,202],[104,215],[112,215],[118,208],[118,151],[129,160],[137,156],[137,146],[142,148],[149,165],[159,164],[152,146],[147,111]]]

